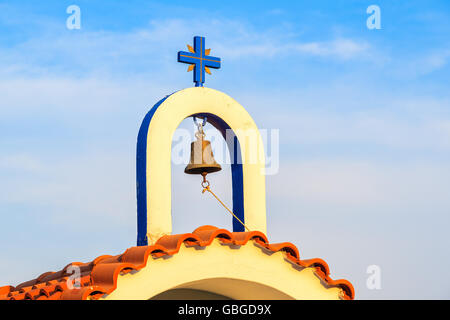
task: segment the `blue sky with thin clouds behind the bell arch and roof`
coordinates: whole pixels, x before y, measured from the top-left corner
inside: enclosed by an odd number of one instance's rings
[[[450,267],[450,4],[170,3],[0,1],[0,284],[135,244],[139,125],[192,86],[176,53],[202,35],[222,58],[206,85],[280,130],[269,239],[323,258],[358,298],[450,298],[436,271]],[[174,232],[230,228],[182,171]],[[228,203],[230,180],[214,181]],[[381,290],[366,287],[373,264]]]

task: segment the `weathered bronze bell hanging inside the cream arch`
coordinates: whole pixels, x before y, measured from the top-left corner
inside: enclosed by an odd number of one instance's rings
[[[214,160],[211,142],[204,140],[203,136],[197,136],[197,140],[191,142],[191,160],[184,172],[206,175],[220,170],[222,170],[222,167]]]

